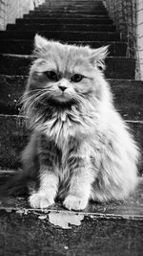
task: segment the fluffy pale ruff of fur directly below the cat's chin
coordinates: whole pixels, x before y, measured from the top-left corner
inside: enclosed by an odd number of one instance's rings
[[[51,118],[46,118],[36,127],[50,137],[58,148],[66,151],[71,138],[82,140],[82,137],[94,132],[94,123],[94,115],[74,108],[71,111],[55,111]]]

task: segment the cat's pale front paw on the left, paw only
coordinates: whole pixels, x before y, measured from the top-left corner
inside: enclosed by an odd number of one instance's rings
[[[54,203],[53,198],[48,198],[46,195],[44,194],[40,194],[40,193],[34,193],[31,195],[31,197],[29,198],[30,204],[31,204],[31,208],[48,208],[51,204]]]

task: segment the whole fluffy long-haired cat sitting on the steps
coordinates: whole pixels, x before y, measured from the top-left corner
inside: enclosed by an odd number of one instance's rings
[[[66,208],[80,210],[90,199],[123,199],[135,188],[138,150],[101,70],[107,51],[35,36],[23,97],[32,129],[23,177],[37,180],[31,207],[60,198]]]

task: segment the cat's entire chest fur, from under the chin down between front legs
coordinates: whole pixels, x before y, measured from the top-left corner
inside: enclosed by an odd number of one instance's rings
[[[79,111],[54,113],[51,119],[43,123],[41,131],[47,159],[51,157],[52,168],[59,177],[59,183],[66,184],[73,170],[84,160],[89,162],[94,155],[91,142],[91,131],[94,119]],[[88,149],[88,151],[87,151]]]

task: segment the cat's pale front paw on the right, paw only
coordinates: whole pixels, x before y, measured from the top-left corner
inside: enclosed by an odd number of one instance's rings
[[[83,210],[88,205],[88,198],[78,198],[69,195],[63,202],[64,206],[69,210]]]

